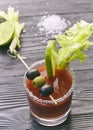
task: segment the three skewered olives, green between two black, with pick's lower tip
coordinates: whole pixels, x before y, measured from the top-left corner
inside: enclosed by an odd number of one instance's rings
[[[47,97],[49,96],[50,99],[54,102],[55,105],[57,105],[56,100],[51,95],[53,93],[53,87],[46,84],[46,80],[43,76],[40,75],[40,72],[38,69],[28,69],[26,73],[27,79],[31,80],[33,83],[33,86],[37,89],[40,88],[40,95]]]

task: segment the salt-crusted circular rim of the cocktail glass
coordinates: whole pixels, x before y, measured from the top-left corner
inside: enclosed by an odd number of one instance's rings
[[[30,69],[33,69],[33,68],[36,68],[36,67],[38,67],[38,65],[42,65],[42,64],[44,64],[45,63],[45,60],[43,59],[43,60],[39,60],[39,61],[36,61],[36,62],[34,62],[34,63],[32,63],[32,65],[30,66]],[[71,85],[71,88],[67,91],[67,93],[64,95],[64,96],[62,96],[62,97],[60,97],[60,98],[58,98],[58,99],[55,99],[55,101],[58,103],[58,102],[62,102],[62,101],[64,101],[66,98],[68,98],[71,94],[72,94],[72,92],[73,92],[73,86],[74,86],[74,81],[73,81],[73,70],[71,69],[71,67],[68,67],[68,69],[70,70],[70,72],[71,72],[71,75],[72,75],[72,85]],[[26,72],[27,72],[28,70],[26,70]],[[26,78],[26,72],[25,72],[25,75],[24,75],[24,80],[25,80],[25,78]],[[31,92],[31,91],[29,91],[29,89],[26,87],[26,83],[25,83],[25,88],[26,88],[26,91],[27,91],[27,93],[29,94],[29,96],[32,98],[32,100],[34,100],[34,101],[36,101],[36,102],[41,102],[41,103],[47,103],[47,104],[54,104],[54,102],[52,101],[52,100],[44,100],[44,99],[40,99],[40,98],[38,98],[38,97],[36,97],[35,95],[33,95],[33,93]]]

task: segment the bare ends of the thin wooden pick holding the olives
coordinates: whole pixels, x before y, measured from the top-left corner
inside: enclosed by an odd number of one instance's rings
[[[7,51],[8,55],[15,58],[17,57],[23,64],[24,66],[27,68],[27,70],[30,70],[29,66],[26,64],[26,62],[23,60],[24,57],[20,56],[20,54],[14,50],[14,55],[12,55],[11,53],[9,53],[9,51]],[[55,105],[57,105],[56,100],[53,98],[52,95],[49,95],[50,99],[54,102]]]

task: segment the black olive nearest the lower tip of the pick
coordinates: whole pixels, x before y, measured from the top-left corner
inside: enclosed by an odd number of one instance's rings
[[[54,91],[54,88],[52,86],[45,84],[40,89],[40,95],[44,97],[48,97],[49,95],[53,93],[53,91]]]

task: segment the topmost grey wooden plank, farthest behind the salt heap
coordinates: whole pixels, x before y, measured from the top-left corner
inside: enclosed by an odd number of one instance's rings
[[[93,11],[93,1],[92,0],[4,0],[0,3],[1,9],[6,10],[7,7],[14,6],[18,8],[21,14],[28,15],[43,15],[46,12],[56,13],[56,14],[70,14],[70,13],[81,13],[81,12],[91,12]]]

